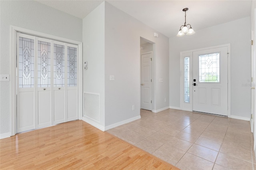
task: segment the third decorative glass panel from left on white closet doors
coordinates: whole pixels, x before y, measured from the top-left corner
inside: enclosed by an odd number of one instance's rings
[[[53,83],[54,87],[64,87],[65,85],[65,47],[54,44],[53,56]]]

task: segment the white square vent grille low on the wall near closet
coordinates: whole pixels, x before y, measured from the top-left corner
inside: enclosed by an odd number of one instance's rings
[[[100,94],[84,93],[84,115],[100,121]]]

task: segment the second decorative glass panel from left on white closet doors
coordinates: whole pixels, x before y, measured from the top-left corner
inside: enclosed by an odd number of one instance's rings
[[[38,87],[51,86],[51,43],[38,41]]]

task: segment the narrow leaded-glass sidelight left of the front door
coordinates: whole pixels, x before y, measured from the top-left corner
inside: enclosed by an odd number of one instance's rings
[[[189,57],[184,58],[184,102],[189,103]]]

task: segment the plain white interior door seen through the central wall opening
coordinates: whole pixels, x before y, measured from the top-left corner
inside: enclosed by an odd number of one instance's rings
[[[141,109],[152,110],[152,52],[141,55]]]

